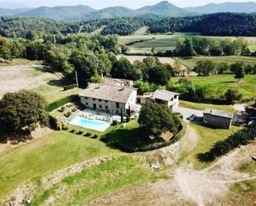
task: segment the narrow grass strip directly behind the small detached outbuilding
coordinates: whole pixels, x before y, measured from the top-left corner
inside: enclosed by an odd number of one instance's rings
[[[180,100],[180,106],[184,108],[192,108],[192,109],[198,109],[205,111],[206,108],[212,108],[212,109],[217,109],[221,111],[225,111],[228,113],[235,113],[236,110],[232,105],[217,105],[217,104],[208,104],[208,103],[191,103],[191,102],[186,102],[183,100]]]

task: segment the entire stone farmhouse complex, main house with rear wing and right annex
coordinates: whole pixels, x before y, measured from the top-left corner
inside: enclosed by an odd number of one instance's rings
[[[80,102],[86,108],[102,110],[112,114],[137,115],[145,103],[163,103],[169,108],[179,105],[179,93],[157,90],[148,95],[138,96],[133,81],[127,79],[104,78],[102,84],[89,84],[80,93]]]

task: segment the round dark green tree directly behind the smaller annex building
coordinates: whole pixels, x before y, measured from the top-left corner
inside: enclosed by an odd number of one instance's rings
[[[171,79],[171,72],[165,65],[157,65],[148,69],[148,82],[154,84],[166,85]]]

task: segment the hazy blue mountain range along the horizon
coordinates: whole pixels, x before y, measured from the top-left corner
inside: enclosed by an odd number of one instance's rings
[[[114,18],[114,17],[188,17],[198,14],[215,12],[256,12],[255,2],[225,2],[210,3],[202,7],[176,7],[170,2],[159,2],[153,6],[131,9],[128,7],[107,7],[96,10],[92,7],[62,6],[62,7],[37,7],[22,9],[0,8],[0,16],[16,17],[41,17],[57,21],[89,21],[94,19]]]

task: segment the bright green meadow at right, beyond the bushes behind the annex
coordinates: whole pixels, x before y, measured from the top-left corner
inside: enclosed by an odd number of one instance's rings
[[[208,98],[220,97],[225,94],[229,88],[237,88],[243,94],[244,99],[255,97],[256,91],[256,75],[247,74],[245,78],[238,82],[234,79],[234,74],[219,74],[207,77],[194,76],[187,77],[195,85],[205,86],[208,89]],[[172,78],[174,81],[179,78]]]

